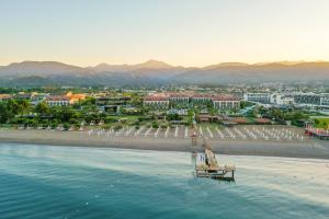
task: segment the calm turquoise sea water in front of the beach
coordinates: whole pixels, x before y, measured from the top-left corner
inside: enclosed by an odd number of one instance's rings
[[[190,153],[2,143],[0,218],[329,218],[329,160],[217,158],[235,183]]]

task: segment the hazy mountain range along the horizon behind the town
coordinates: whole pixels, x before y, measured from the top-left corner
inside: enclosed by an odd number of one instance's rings
[[[224,62],[197,67],[148,60],[137,65],[78,67],[57,61],[23,61],[0,66],[1,87],[227,84],[261,82],[329,82],[329,62]]]

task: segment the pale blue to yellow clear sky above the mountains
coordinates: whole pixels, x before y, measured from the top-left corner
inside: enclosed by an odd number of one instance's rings
[[[0,65],[329,60],[328,0],[0,0]]]

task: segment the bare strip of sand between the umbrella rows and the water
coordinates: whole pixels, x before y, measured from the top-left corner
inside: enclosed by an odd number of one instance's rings
[[[0,142],[161,151],[191,151],[192,148],[190,138],[125,137],[55,130],[0,129]],[[328,141],[316,139],[304,142],[215,139],[208,142],[215,152],[223,154],[329,159]]]

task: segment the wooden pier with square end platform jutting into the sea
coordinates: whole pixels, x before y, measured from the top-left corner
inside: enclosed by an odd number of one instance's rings
[[[220,181],[235,181],[236,166],[218,164],[211,146],[203,136],[202,138],[203,152],[196,152],[195,150],[192,151],[193,157],[195,157],[195,176]],[[192,136],[192,142],[195,142],[195,132]]]

